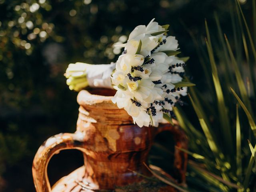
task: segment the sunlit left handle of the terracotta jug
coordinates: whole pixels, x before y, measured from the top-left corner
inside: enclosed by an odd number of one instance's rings
[[[36,152],[32,173],[37,192],[50,192],[51,186],[47,175],[47,166],[51,157],[60,150],[83,150],[84,135],[82,132],[60,133],[48,138]]]

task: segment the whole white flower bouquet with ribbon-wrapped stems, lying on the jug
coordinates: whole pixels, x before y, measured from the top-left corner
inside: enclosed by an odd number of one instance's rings
[[[171,122],[173,106],[186,96],[183,81],[188,58],[178,58],[178,41],[167,36],[169,25],[160,26],[154,19],[137,26],[129,35],[122,55],[108,65],[70,64],[66,71],[71,90],[86,86],[114,88],[112,102],[124,108],[138,126],[158,126]],[[114,72],[113,72],[114,71]]]

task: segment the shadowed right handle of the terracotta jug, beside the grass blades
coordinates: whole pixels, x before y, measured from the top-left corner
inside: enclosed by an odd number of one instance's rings
[[[157,130],[156,134],[170,131],[175,140],[174,148],[174,174],[175,178],[178,178],[178,182],[185,183],[186,180],[186,169],[188,164],[188,154],[179,150],[179,148],[188,149],[188,139],[185,132],[178,125],[178,123],[171,124],[161,124]]]

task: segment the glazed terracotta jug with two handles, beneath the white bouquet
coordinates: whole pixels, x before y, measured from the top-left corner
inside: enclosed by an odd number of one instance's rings
[[[77,101],[80,105],[75,133],[61,133],[50,137],[38,149],[34,157],[32,172],[37,192],[71,191],[71,185],[80,187],[78,191],[97,189],[113,190],[140,182],[137,173],[150,175],[143,162],[156,134],[170,131],[176,146],[187,148],[184,132],[177,125],[160,124],[159,127],[138,127],[124,109],[119,109],[111,101],[114,90],[82,90]],[[84,156],[84,166],[70,174],[66,183],[51,189],[47,176],[50,158],[60,150],[78,149]],[[187,154],[175,148],[174,170],[179,182],[185,182]],[[69,184],[68,184],[69,183]],[[75,184],[74,184],[75,183]],[[84,190],[82,190],[82,188]]]

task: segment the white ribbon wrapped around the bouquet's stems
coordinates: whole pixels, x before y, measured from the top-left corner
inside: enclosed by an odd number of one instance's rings
[[[92,65],[86,67],[86,77],[90,87],[93,88],[110,88],[113,89],[110,76],[116,68],[116,63]]]

